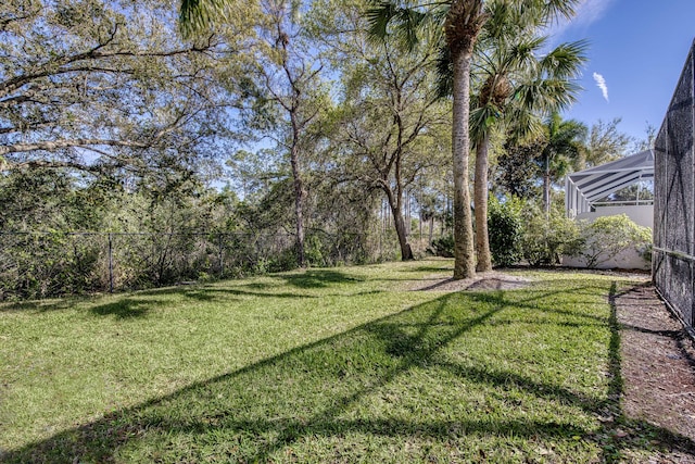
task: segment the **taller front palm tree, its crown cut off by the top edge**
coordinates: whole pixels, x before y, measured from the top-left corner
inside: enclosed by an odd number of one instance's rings
[[[439,29],[442,47],[451,60],[453,127],[452,156],[454,174],[454,278],[472,277],[475,269],[473,231],[468,188],[468,153],[470,151],[470,70],[478,37],[495,10],[500,14],[515,14],[523,9],[541,9],[547,17],[570,17],[578,0],[383,0],[369,10],[370,34],[386,37],[390,32],[401,36],[410,47],[418,41],[418,32]],[[389,26],[392,26],[391,29]]]

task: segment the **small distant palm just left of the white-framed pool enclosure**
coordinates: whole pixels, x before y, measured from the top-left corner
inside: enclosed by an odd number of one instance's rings
[[[565,176],[582,158],[586,126],[576,120],[564,121],[558,113],[553,113],[545,121],[544,130],[545,147],[539,161],[543,167],[543,208],[549,216],[552,181]]]

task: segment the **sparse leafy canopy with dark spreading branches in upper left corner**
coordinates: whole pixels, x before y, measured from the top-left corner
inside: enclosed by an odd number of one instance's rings
[[[198,172],[225,131],[212,77],[229,49],[187,46],[166,2],[10,0],[0,12],[0,168]]]

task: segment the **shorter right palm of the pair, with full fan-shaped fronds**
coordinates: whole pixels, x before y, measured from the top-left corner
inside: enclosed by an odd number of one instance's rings
[[[473,201],[476,205],[476,254],[478,272],[492,269],[488,236],[488,173],[491,131],[510,126],[518,137],[538,134],[538,114],[558,111],[576,100],[579,87],[572,83],[586,61],[586,43],[563,43],[540,57],[546,37],[538,30],[547,21],[543,9],[519,10],[507,2],[490,4],[473,80],[480,81],[473,99],[470,130],[476,148]],[[506,12],[506,13],[505,13]]]

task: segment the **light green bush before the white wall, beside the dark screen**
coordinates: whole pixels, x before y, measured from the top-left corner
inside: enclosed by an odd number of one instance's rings
[[[636,225],[626,214],[580,222],[581,248],[572,253],[594,268],[627,250],[635,250],[645,258],[652,247],[652,230]]]

